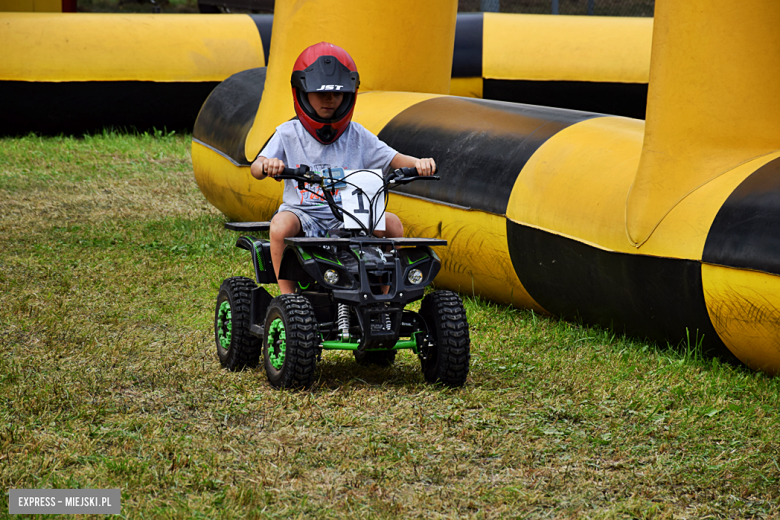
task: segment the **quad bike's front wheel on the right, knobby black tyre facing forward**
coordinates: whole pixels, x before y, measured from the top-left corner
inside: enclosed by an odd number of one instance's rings
[[[428,331],[420,353],[423,375],[429,383],[463,386],[469,374],[469,322],[460,297],[436,291],[423,298],[420,316]]]

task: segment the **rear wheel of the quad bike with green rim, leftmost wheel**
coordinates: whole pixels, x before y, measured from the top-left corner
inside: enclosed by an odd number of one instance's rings
[[[217,357],[228,370],[241,370],[257,366],[262,342],[250,334],[251,294],[257,287],[254,281],[243,276],[228,278],[222,282],[214,313],[214,339]]]

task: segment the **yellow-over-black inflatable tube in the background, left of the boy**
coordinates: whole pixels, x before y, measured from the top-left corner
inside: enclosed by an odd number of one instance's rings
[[[0,13],[0,23],[0,135],[18,135],[191,129],[220,81],[265,65],[272,17]]]

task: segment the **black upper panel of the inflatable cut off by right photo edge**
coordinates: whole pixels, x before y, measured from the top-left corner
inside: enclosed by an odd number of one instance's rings
[[[780,159],[742,181],[712,222],[702,260],[780,274]]]

